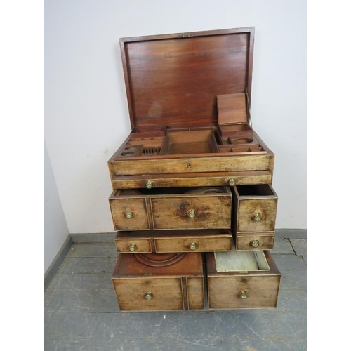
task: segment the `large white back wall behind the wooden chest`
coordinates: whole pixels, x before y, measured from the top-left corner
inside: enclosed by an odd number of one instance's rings
[[[44,133],[69,232],[113,231],[107,160],[131,131],[119,38],[247,26],[277,228],[306,227],[305,1],[46,0],[44,15]]]

